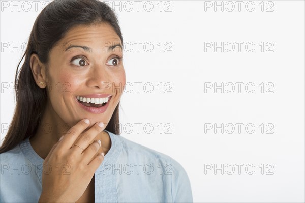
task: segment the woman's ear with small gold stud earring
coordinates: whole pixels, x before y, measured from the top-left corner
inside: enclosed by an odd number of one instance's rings
[[[45,75],[45,66],[40,62],[38,55],[33,53],[29,59],[29,66],[31,67],[32,74],[36,84],[40,88],[46,87],[46,75]],[[41,83],[43,82],[43,83]]]

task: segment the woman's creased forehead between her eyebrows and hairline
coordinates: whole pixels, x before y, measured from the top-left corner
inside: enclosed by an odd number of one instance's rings
[[[64,46],[69,46],[77,42],[121,44],[119,36],[108,23],[75,26],[65,34],[62,40],[60,40],[60,44]]]

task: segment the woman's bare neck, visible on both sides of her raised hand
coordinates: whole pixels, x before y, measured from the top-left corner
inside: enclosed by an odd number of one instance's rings
[[[65,135],[71,127],[72,126],[69,126],[60,119],[58,115],[52,114],[49,107],[46,107],[35,135],[32,135],[29,139],[31,146],[42,159],[45,159],[54,144],[58,142],[59,138]],[[81,136],[81,134],[79,136]],[[111,147],[111,140],[108,133],[102,131],[97,134],[92,142],[96,139],[101,140],[102,144],[98,153],[104,152],[104,154],[107,154]]]

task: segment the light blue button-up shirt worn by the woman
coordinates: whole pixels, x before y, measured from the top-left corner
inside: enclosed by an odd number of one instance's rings
[[[95,202],[193,202],[188,175],[177,161],[107,132],[111,148],[95,172]],[[29,138],[0,154],[0,202],[38,202],[43,161]]]

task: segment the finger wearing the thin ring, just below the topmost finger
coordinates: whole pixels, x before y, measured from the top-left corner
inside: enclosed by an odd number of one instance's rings
[[[90,143],[93,142],[94,138],[97,136],[98,133],[102,132],[104,130],[104,124],[102,122],[98,122],[95,125],[93,125],[89,130],[84,132],[80,138],[76,141],[75,144],[77,144],[79,147],[86,150],[86,148],[89,146]],[[82,153],[83,150],[77,146],[72,146],[72,149]]]

